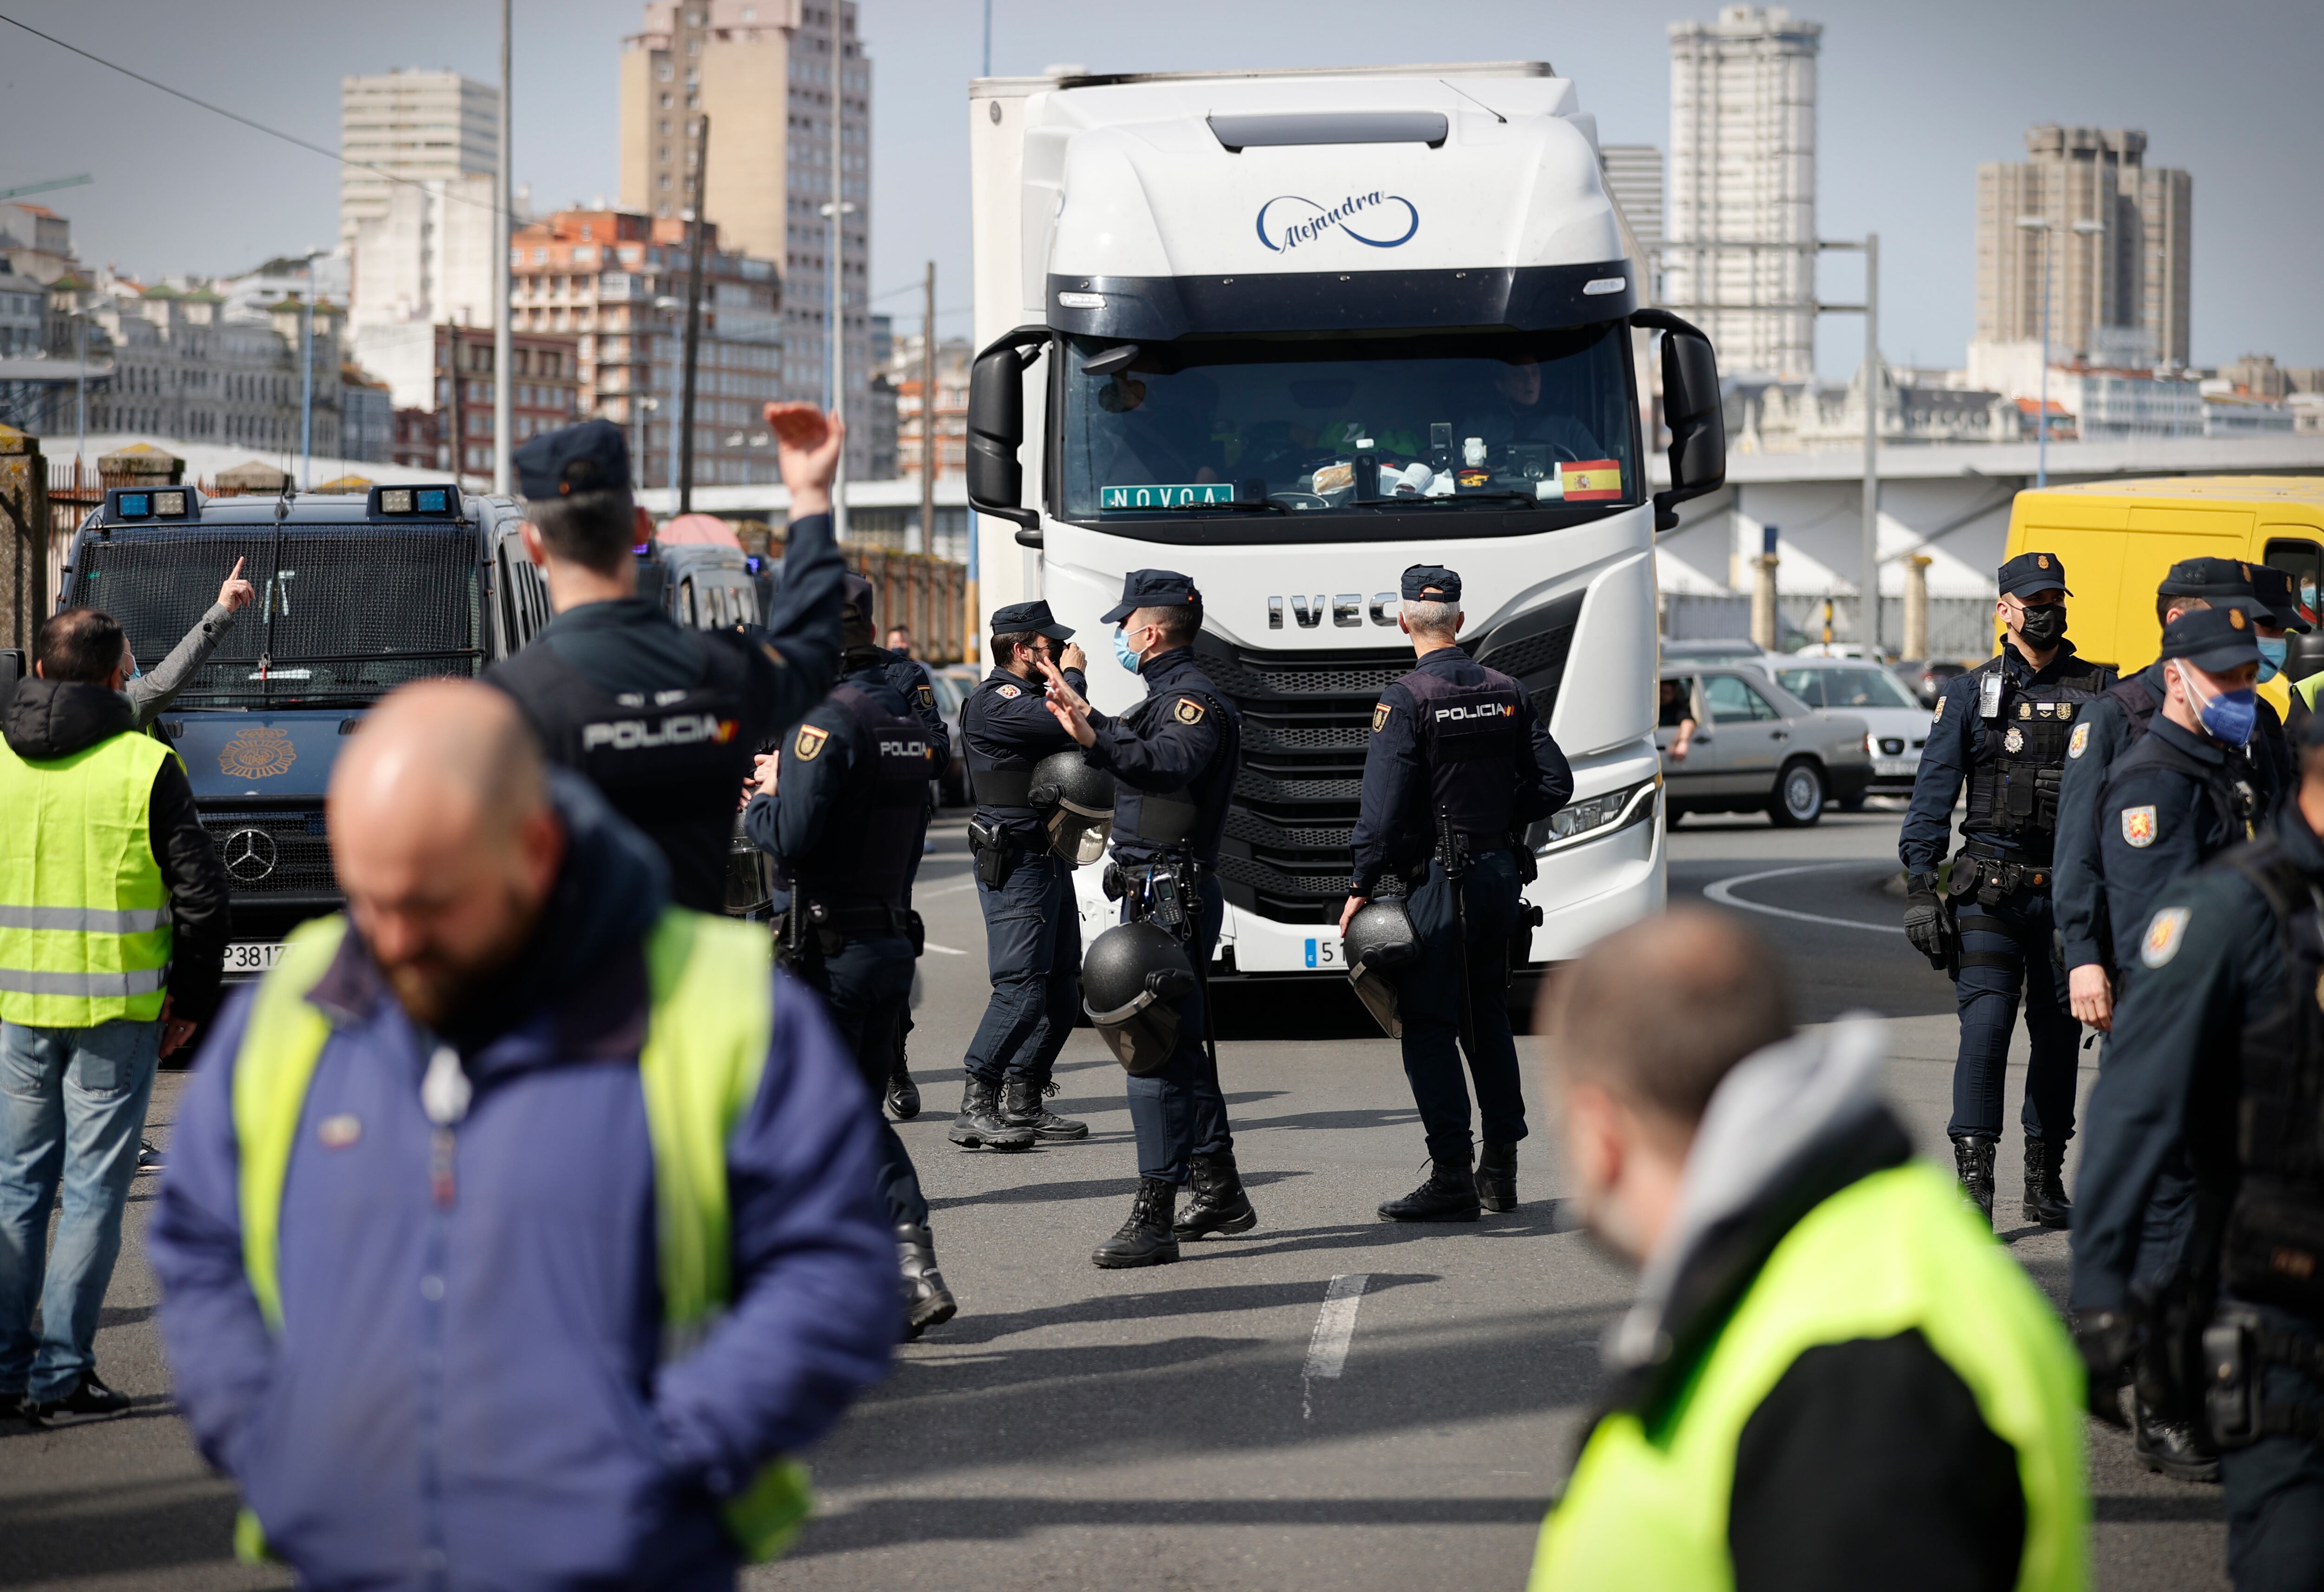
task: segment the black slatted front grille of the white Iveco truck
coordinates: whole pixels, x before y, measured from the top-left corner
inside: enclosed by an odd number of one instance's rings
[[[1583,595],[1529,609],[1471,655],[1513,674],[1548,723],[1573,648]],[[1220,841],[1227,899],[1276,923],[1336,923],[1348,897],[1348,855],[1364,793],[1371,709],[1413,667],[1408,646],[1269,653],[1204,632],[1204,672],[1243,716],[1243,767]]]

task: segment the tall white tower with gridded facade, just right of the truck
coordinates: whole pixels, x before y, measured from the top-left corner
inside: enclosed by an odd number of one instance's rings
[[[1722,370],[1815,370],[1815,56],[1822,23],[1724,5],[1671,23],[1664,297]],[[1701,244],[1690,249],[1690,244]],[[1717,249],[1708,244],[1722,244]]]

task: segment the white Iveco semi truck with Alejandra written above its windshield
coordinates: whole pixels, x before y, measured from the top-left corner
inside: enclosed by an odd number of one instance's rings
[[[1724,479],[1708,339],[1641,309],[1597,126],[1541,63],[981,79],[969,93],[978,609],[1048,597],[1090,697],[1141,567],[1204,593],[1243,713],[1222,976],[1339,971],[1406,565],[1573,760],[1527,841],[1536,964],[1664,902],[1655,530]],[[1638,367],[1662,332],[1671,474]],[[1113,920],[1081,872],[1085,937]]]

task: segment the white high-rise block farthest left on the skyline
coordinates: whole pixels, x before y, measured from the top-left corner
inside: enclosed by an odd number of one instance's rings
[[[339,167],[339,242],[353,246],[358,225],[386,218],[390,177],[493,177],[497,149],[500,88],[490,84],[458,72],[342,77],[339,153],[363,165]]]

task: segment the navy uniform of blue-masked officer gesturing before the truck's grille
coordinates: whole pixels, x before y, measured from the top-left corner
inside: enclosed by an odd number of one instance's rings
[[[1122,600],[1104,614],[1118,625],[1139,609],[1190,607],[1202,623],[1202,593],[1174,569],[1132,569]],[[1083,748],[1090,767],[1113,774],[1113,862],[1109,895],[1122,899],[1122,923],[1153,911],[1160,879],[1176,869],[1192,881],[1192,899],[1181,902],[1188,960],[1197,974],[1211,967],[1218,930],[1227,916],[1218,888],[1218,841],[1227,830],[1227,802],[1243,751],[1243,716],[1190,646],[1153,653],[1139,665],[1146,700],[1120,718],[1090,709],[1097,744]],[[1139,1143],[1141,1199],[1146,1183],[1181,1188],[1195,1181],[1195,1204],[1174,1232],[1195,1236],[1248,1227],[1250,1206],[1234,1167],[1234,1134],[1227,1097],[1218,1088],[1218,1062],[1204,1044],[1211,1030],[1208,985],[1178,1002],[1178,1032],[1162,1069],[1129,1078],[1129,1123]],[[1218,1220],[1234,1211],[1232,1220]],[[1132,1225],[1141,1215],[1132,1213]],[[1239,1222],[1239,1227],[1234,1227]],[[1120,1243],[1132,1227],[1116,1236]],[[1099,1264],[1116,1264],[1099,1250]]]

